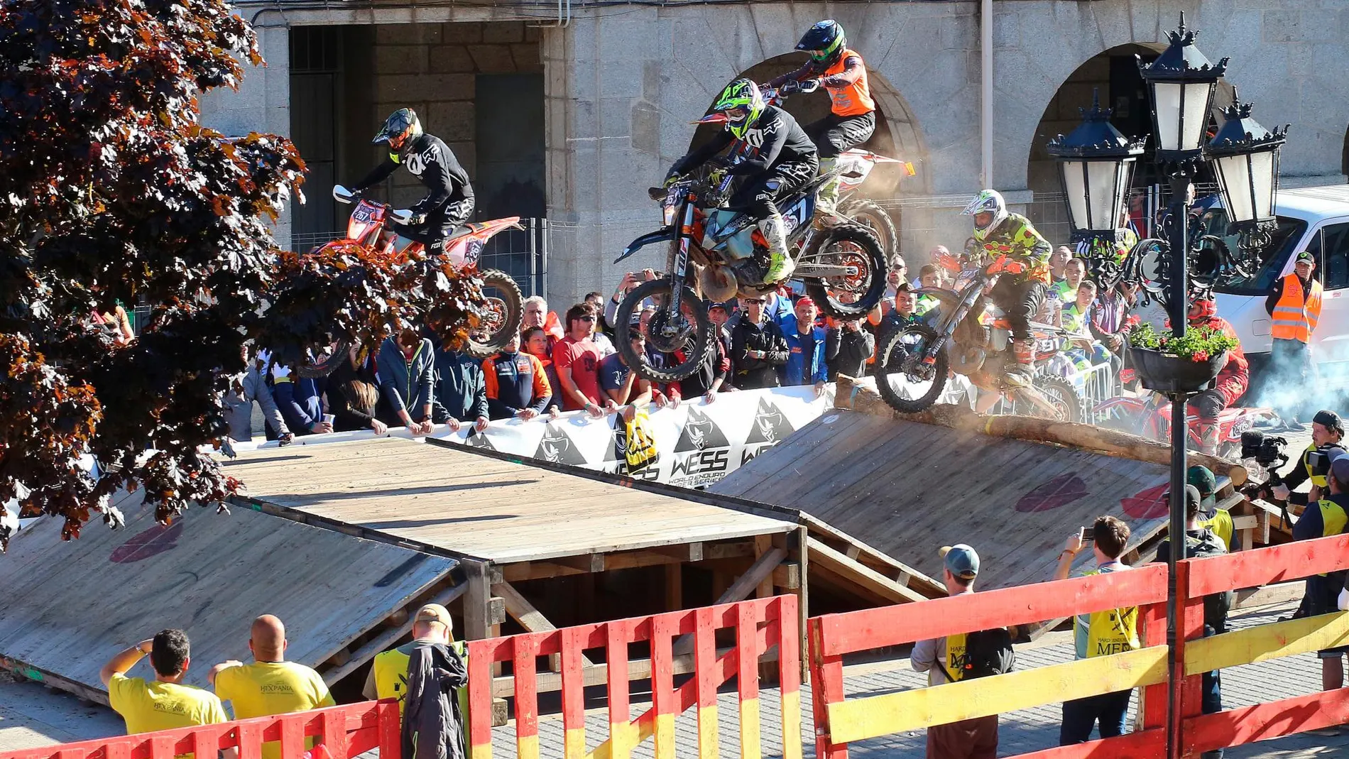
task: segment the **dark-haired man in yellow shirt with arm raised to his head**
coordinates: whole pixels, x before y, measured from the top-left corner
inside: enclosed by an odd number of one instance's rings
[[[127,677],[127,670],[147,654],[155,671],[154,681]],[[162,630],[154,638],[117,652],[103,666],[98,679],[108,689],[113,710],[127,721],[128,735],[229,721],[220,698],[182,684],[190,663],[188,634]]]

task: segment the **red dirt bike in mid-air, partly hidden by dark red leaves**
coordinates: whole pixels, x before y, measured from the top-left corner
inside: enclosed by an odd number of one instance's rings
[[[348,190],[341,185],[333,187],[333,200],[341,204],[356,204],[347,221],[347,237],[333,240],[324,245],[349,245],[352,243],[366,245],[383,253],[398,253],[409,259],[415,259],[425,252],[425,245],[420,241],[405,244],[394,249],[398,236],[393,231],[393,224],[409,224],[411,214],[406,210],[397,210],[389,204],[380,204],[362,197],[355,190]],[[478,259],[483,245],[498,232],[505,229],[523,229],[518,216],[496,218],[492,221],[469,222],[457,229],[445,240],[445,256],[455,271],[478,276],[484,287],[496,291],[487,297],[488,317],[478,329],[469,333],[464,349],[479,359],[486,359],[500,352],[513,336],[519,332],[519,322],[525,310],[523,297],[519,284],[505,271],[487,270],[478,271]],[[320,248],[322,249],[322,248]],[[317,359],[301,363],[298,371],[302,376],[326,376],[337,368],[337,361],[347,357],[349,345],[344,341],[331,346]]]

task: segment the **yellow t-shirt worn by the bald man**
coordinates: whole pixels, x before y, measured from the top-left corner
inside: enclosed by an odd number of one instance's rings
[[[229,701],[236,720],[335,706],[324,678],[295,662],[254,662],[216,673],[216,696]],[[305,748],[314,740],[306,739]],[[263,759],[281,758],[281,741],[262,744]]]

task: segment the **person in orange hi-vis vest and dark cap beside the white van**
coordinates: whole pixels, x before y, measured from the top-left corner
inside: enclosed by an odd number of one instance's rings
[[[1275,280],[1265,298],[1269,311],[1269,336],[1273,345],[1269,360],[1280,382],[1292,390],[1279,413],[1292,430],[1303,429],[1298,415],[1306,410],[1300,406],[1315,379],[1311,363],[1311,333],[1317,330],[1321,318],[1321,283],[1313,279],[1317,259],[1309,251],[1302,251],[1294,259],[1292,272]],[[1295,390],[1294,390],[1295,388]]]

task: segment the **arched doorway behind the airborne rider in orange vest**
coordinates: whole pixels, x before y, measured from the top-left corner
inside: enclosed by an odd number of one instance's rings
[[[741,71],[739,77],[749,77],[755,82],[766,82],[773,77],[793,71],[805,63],[804,53],[788,53],[766,61],[761,61]],[[928,194],[931,177],[924,171],[927,163],[927,147],[923,143],[921,131],[908,102],[894,89],[893,85],[876,70],[867,71],[871,88],[871,98],[876,100],[876,132],[861,147],[901,160],[912,162],[917,174],[908,177],[902,164],[880,164],[866,179],[861,191],[884,208],[898,231],[900,249],[911,237],[907,233],[902,218],[902,198]],[[708,102],[711,108],[711,102]],[[823,119],[830,112],[830,98],[823,92],[812,94],[797,94],[791,97],[785,105],[800,124],[805,125],[817,119]],[[692,119],[691,119],[692,120]],[[689,142],[689,148],[703,144],[718,127],[699,127]]]

